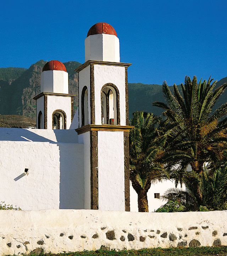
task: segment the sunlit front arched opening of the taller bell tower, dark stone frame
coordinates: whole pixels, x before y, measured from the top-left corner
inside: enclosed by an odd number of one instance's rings
[[[120,125],[119,91],[116,85],[108,83],[101,89],[102,124]]]

